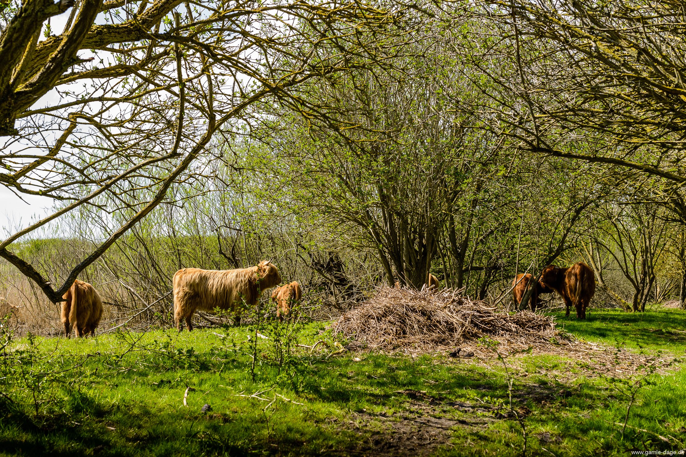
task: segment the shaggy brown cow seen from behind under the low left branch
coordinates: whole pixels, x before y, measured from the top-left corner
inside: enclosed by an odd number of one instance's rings
[[[62,296],[62,323],[67,338],[76,328],[80,337],[89,333],[95,336],[95,328],[102,317],[102,299],[91,284],[75,280],[69,291]]]

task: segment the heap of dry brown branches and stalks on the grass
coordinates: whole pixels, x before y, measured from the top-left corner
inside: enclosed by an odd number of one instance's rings
[[[334,324],[334,332],[349,338],[351,349],[403,351],[469,347],[479,338],[490,338],[499,348],[513,351],[549,345],[550,338],[558,334],[552,317],[496,309],[449,289],[383,287],[343,314]]]

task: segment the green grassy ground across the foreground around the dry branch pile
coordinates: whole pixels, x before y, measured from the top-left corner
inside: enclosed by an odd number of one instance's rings
[[[686,349],[680,310],[558,321],[585,341],[665,351],[661,358]],[[509,357],[508,374],[497,359],[443,354],[327,358],[335,347],[323,324],[298,335],[331,349],[284,351],[250,327],[81,341],[4,334],[0,454],[604,456],[685,447],[678,365],[639,385],[643,372],[608,378],[584,360],[545,354]]]

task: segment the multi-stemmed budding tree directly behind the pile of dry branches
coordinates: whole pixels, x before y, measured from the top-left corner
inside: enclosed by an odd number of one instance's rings
[[[456,52],[459,27],[435,25],[406,48],[402,71],[309,86],[313,103],[364,129],[342,135],[284,115],[241,166],[255,171],[257,201],[373,253],[388,284],[419,288],[432,272],[483,298],[573,245],[604,188],[566,160],[512,153],[489,131],[485,87],[464,77],[470,62]]]

